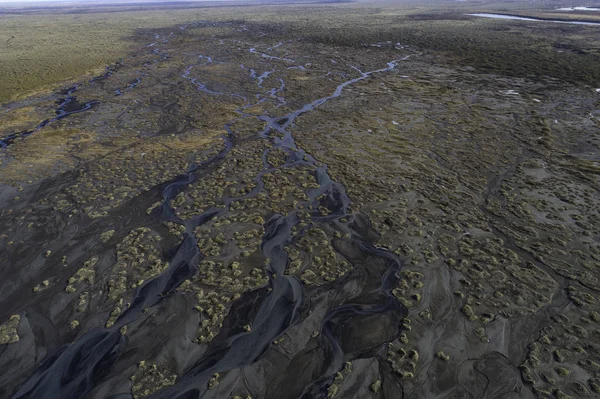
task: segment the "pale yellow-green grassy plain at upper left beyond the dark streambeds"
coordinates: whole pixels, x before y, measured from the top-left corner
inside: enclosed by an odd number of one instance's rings
[[[194,18],[187,10],[0,15],[0,103],[114,63],[137,29]]]

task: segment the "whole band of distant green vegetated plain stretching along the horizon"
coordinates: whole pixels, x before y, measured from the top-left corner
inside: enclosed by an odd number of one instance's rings
[[[281,35],[326,44],[361,46],[394,40],[432,50],[455,62],[511,76],[549,75],[591,85],[600,82],[597,27],[507,22],[467,17],[468,11],[499,10],[541,17],[556,13],[523,6],[468,3],[443,5],[354,3],[338,6],[253,6],[175,10],[61,13],[56,10],[0,15],[0,103],[56,85],[114,63],[131,51],[140,29],[194,20],[245,20],[269,24]],[[449,7],[449,6],[448,6]],[[294,12],[297,8],[303,17]],[[547,7],[552,9],[553,6]],[[519,11],[521,10],[521,11]],[[590,13],[562,18],[593,18]],[[361,29],[355,29],[359,23]]]

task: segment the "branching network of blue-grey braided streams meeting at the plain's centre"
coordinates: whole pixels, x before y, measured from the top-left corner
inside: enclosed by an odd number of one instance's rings
[[[184,29],[184,27],[180,29]],[[161,43],[166,43],[167,41],[168,39],[165,38]],[[151,46],[154,45],[155,43]],[[288,58],[279,58],[257,52],[254,47],[250,49],[250,52],[269,61],[294,62]],[[153,49],[153,53],[161,55],[160,60],[167,59],[167,56],[161,54],[156,48]],[[190,80],[198,90],[202,90],[210,95],[233,96],[243,98],[247,101],[246,97],[239,94],[220,93],[210,90],[205,84],[190,78],[190,72],[194,67],[201,67],[213,62],[213,59],[208,56],[201,55],[198,58],[203,63],[187,67],[182,75],[183,78]],[[92,329],[82,335],[76,342],[64,346],[48,357],[12,398],[79,398],[85,396],[86,393],[90,392],[102,381],[120,354],[125,351],[126,341],[119,330],[123,326],[138,320],[142,317],[144,309],[160,303],[167,295],[173,293],[183,281],[196,273],[197,265],[203,259],[203,254],[198,249],[194,229],[215,217],[225,215],[234,200],[256,196],[262,190],[264,186],[262,176],[265,173],[278,169],[277,167],[272,167],[266,161],[266,154],[271,149],[265,150],[263,154],[263,170],[255,177],[256,187],[243,197],[228,200],[224,207],[213,207],[199,216],[188,220],[181,220],[171,208],[170,201],[189,184],[196,181],[200,176],[207,173],[207,171],[214,169],[229,154],[231,149],[236,145],[237,140],[235,133],[232,131],[233,123],[239,119],[248,117],[258,118],[260,121],[265,122],[266,127],[258,132],[258,135],[263,139],[271,140],[274,144],[272,149],[281,149],[288,153],[290,161],[279,168],[304,165],[314,169],[319,187],[308,190],[309,203],[310,205],[319,205],[317,197],[325,195],[330,214],[322,216],[318,211],[315,211],[311,215],[313,222],[329,223],[338,231],[349,234],[349,242],[352,242],[365,253],[382,259],[388,265],[387,271],[381,276],[381,300],[379,303],[371,305],[344,304],[330,309],[323,319],[321,334],[324,337],[323,345],[329,353],[330,364],[327,367],[327,371],[320,378],[306,387],[302,397],[326,397],[327,386],[331,384],[335,373],[343,367],[344,362],[343,350],[335,334],[332,332],[333,318],[342,313],[375,314],[387,311],[396,312],[403,317],[405,310],[391,294],[392,287],[397,283],[398,271],[401,265],[400,260],[394,253],[374,247],[363,237],[362,234],[364,233],[361,234],[353,228],[355,217],[348,211],[350,199],[346,195],[344,186],[331,179],[327,171],[327,165],[317,162],[313,156],[297,146],[291,129],[294,126],[296,118],[314,110],[329,100],[339,97],[342,95],[344,88],[365,80],[371,75],[392,71],[398,66],[399,62],[406,58],[408,57],[390,61],[387,63],[387,67],[369,72],[362,72],[358,68],[353,67],[360,76],[339,84],[331,95],[316,99],[283,116],[271,117],[266,113],[255,116],[244,112],[245,109],[255,104],[260,104],[267,98],[278,101],[279,104],[276,108],[285,104],[282,94],[285,83],[282,79],[279,80],[281,84],[279,88],[259,94],[256,96],[257,101],[255,103],[247,101],[244,106],[238,108],[236,112],[240,115],[239,118],[225,125],[227,134],[223,138],[225,142],[224,149],[212,158],[200,164],[192,165],[187,173],[173,179],[164,188],[163,203],[156,213],[160,213],[158,216],[162,220],[172,221],[184,225],[186,228],[183,241],[171,260],[169,267],[136,290],[131,305],[123,312],[112,327],[97,327]],[[160,62],[160,60],[157,60],[157,62]],[[243,65],[241,67],[245,68]],[[269,71],[268,73],[271,72]],[[268,73],[266,72],[267,75]],[[267,75],[265,73],[256,75],[256,72],[251,70],[251,76],[258,80],[258,87],[262,86],[262,82]],[[277,132],[281,137],[269,134],[271,132]],[[288,264],[288,254],[284,250],[284,247],[293,240],[292,228],[298,224],[298,216],[293,211],[287,215],[274,215],[265,224],[265,234],[262,238],[261,250],[264,256],[270,260],[267,266],[267,275],[269,277],[268,288],[270,292],[256,305],[257,310],[252,322],[252,330],[232,334],[218,344],[210,345],[202,357],[176,381],[175,385],[154,392],[149,396],[150,398],[202,397],[208,389],[207,382],[213,374],[255,363],[261,358],[274,339],[299,322],[300,307],[304,299],[303,285],[295,276],[285,274]],[[261,289],[264,289],[264,287]],[[118,397],[130,398],[131,394],[122,394],[118,395]]]

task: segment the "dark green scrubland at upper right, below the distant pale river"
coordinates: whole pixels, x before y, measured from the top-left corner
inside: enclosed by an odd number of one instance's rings
[[[351,26],[316,34],[315,41],[356,46],[392,40],[420,50],[442,52],[454,62],[486,72],[517,77],[552,76],[569,82],[598,84],[598,28],[541,26],[465,19],[462,15],[398,21],[387,30]],[[536,25],[537,24],[537,25]],[[553,32],[548,37],[548,32]],[[579,36],[579,38],[577,38]],[[566,51],[565,51],[566,49]]]

